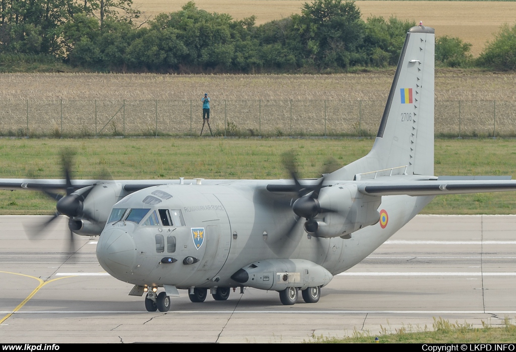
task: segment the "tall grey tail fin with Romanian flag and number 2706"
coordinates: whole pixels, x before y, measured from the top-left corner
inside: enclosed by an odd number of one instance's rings
[[[409,29],[373,148],[330,179],[399,166],[408,174],[433,175],[434,33],[425,26]]]

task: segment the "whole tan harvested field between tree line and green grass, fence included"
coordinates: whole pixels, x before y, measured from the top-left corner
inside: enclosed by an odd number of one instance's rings
[[[348,75],[0,75],[0,135],[374,135],[394,71]],[[516,74],[441,70],[436,133],[515,136]],[[232,131],[225,131],[227,122]]]

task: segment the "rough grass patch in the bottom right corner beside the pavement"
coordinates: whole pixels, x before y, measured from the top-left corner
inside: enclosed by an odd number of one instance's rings
[[[466,322],[450,323],[441,318],[434,318],[432,330],[426,325],[407,325],[394,329],[393,333],[390,331],[391,329],[380,326],[380,331],[376,335],[355,330],[349,338],[314,336],[308,342],[375,343],[375,338],[378,338],[378,343],[514,343],[516,337],[516,325],[511,324],[507,317],[502,327],[494,327],[482,321],[481,328],[474,328]]]

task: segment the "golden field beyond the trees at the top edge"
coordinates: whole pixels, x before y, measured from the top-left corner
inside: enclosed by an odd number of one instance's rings
[[[134,6],[152,17],[162,12],[178,11],[186,0],[135,0]],[[306,0],[197,0],[200,9],[229,13],[235,19],[256,15],[256,23],[301,13]],[[514,24],[516,2],[436,2],[436,1],[357,1],[364,20],[369,16],[396,16],[400,20],[436,28],[436,35],[459,37],[473,44],[472,54],[478,56],[487,41],[503,23]]]

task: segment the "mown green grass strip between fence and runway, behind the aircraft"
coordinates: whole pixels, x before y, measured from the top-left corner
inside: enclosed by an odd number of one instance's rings
[[[346,165],[373,139],[91,138],[0,139],[0,178],[62,178],[60,151],[76,151],[73,177],[114,179],[288,178],[281,154],[293,149],[300,177],[319,177],[328,157]],[[516,139],[437,139],[436,175],[512,175]],[[513,192],[442,196],[425,214],[516,214]],[[35,191],[0,191],[0,215],[51,214],[55,203]]]

